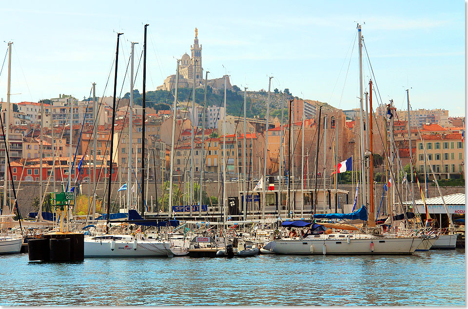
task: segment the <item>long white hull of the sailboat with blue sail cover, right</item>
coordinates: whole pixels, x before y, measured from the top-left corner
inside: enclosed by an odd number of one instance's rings
[[[265,247],[276,254],[413,254],[423,238],[362,237],[273,240]],[[264,248],[265,248],[264,247]]]

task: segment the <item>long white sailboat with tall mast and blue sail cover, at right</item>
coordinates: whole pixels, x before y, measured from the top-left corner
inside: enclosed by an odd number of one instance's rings
[[[360,111],[361,111],[361,145],[364,145],[363,138],[366,135],[363,133],[363,83],[362,83],[362,43],[361,25],[357,25],[359,39],[359,79],[360,79]],[[370,88],[372,90],[372,88]],[[367,101],[367,100],[366,100]],[[371,104],[371,100],[370,100]],[[371,106],[371,105],[370,105]],[[367,103],[366,103],[367,109]],[[317,152],[318,152],[318,136],[317,136]],[[369,138],[369,136],[367,136]],[[372,136],[370,136],[370,140]],[[364,159],[370,156],[372,162],[372,144],[370,142],[370,151],[364,154],[364,146],[361,147],[362,166],[361,171],[366,171]],[[371,166],[372,164],[370,164]],[[363,188],[363,204],[362,207],[351,213],[328,213],[328,214],[313,214],[314,219],[348,219],[361,220],[367,226],[363,229],[348,225],[347,227],[338,227],[329,225],[331,228],[339,228],[337,230],[327,229],[323,224],[315,223],[314,229],[309,229],[305,234],[292,232],[288,237],[275,239],[267,243],[264,251],[270,251],[277,254],[413,254],[414,251],[427,240],[428,237],[422,232],[413,232],[408,235],[394,234],[383,235],[375,228],[375,219],[373,214],[373,203],[370,201],[370,212],[366,205],[366,173],[361,173],[362,188]],[[372,196],[372,173],[370,173],[370,196]],[[406,215],[405,215],[406,218]],[[312,222],[292,221],[283,222],[283,226],[289,228],[305,228],[311,227]],[[321,227],[321,231],[314,232],[317,225]],[[312,231],[313,230],[313,231]],[[346,231],[348,230],[348,231]],[[354,231],[354,232],[350,232]],[[346,232],[345,232],[346,231]],[[427,242],[427,241],[426,241]]]

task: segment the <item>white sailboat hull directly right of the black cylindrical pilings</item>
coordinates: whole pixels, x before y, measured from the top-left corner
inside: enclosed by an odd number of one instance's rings
[[[84,257],[172,257],[171,244],[163,241],[84,239]],[[112,248],[114,247],[114,248]]]

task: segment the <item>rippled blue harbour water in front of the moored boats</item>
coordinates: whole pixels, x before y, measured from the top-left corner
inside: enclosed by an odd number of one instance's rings
[[[465,305],[465,251],[413,256],[0,256],[0,305]]]

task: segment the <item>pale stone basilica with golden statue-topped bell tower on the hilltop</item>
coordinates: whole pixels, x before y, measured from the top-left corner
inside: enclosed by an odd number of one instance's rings
[[[198,29],[195,28],[194,44],[190,46],[192,57],[185,53],[179,62],[179,88],[192,88],[195,82],[195,87],[203,87],[205,77],[203,75],[203,67],[201,61],[202,45],[198,44]],[[195,76],[194,76],[195,68]],[[208,79],[207,85],[213,89],[224,89],[224,76],[220,78]],[[156,87],[156,90],[172,90],[176,87],[176,75],[170,75],[164,79],[164,83]],[[232,90],[233,87],[229,80],[226,80],[226,88]]]

